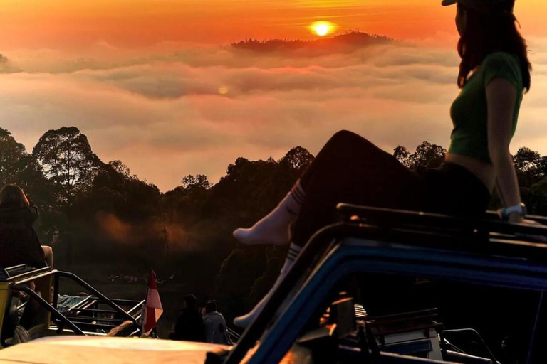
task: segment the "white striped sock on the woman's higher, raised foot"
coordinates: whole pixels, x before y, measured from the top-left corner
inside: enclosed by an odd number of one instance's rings
[[[254,224],[252,228],[235,230],[234,237],[248,245],[288,244],[291,239],[291,224],[298,218],[304,197],[304,190],[300,186],[300,181],[297,181],[291,192],[281,200],[271,213]]]

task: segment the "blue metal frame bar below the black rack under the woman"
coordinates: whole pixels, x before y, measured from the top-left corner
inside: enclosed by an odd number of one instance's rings
[[[396,272],[510,289],[547,289],[547,267],[544,264],[533,264],[519,258],[481,257],[375,240],[343,240],[318,264],[296,297],[283,304],[286,309],[279,310],[278,318],[262,336],[249,364],[278,363],[334,284],[348,274],[358,272]]]

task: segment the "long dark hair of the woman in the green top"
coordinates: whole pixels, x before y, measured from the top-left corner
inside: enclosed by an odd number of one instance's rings
[[[530,71],[526,41],[516,28],[511,11],[478,11],[458,3],[458,10],[467,14],[466,25],[458,42],[459,64],[458,87],[464,87],[467,76],[481,65],[486,55],[494,52],[511,53],[519,57],[522,85],[530,90]]]

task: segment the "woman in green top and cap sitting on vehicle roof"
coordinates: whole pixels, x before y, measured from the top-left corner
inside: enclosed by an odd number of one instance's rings
[[[310,237],[335,222],[340,202],[481,218],[497,185],[506,206],[501,215],[511,223],[530,223],[524,220],[526,208],[509,154],[523,93],[531,85],[514,0],[442,4],[457,4],[462,58],[457,77],[462,91],[452,103],[454,129],[444,162],[439,168],[411,171],[367,139],[336,133],[277,208],[251,228],[234,231],[244,244],[290,244],[274,289]],[[270,294],[237,317],[235,325],[248,326]]]

